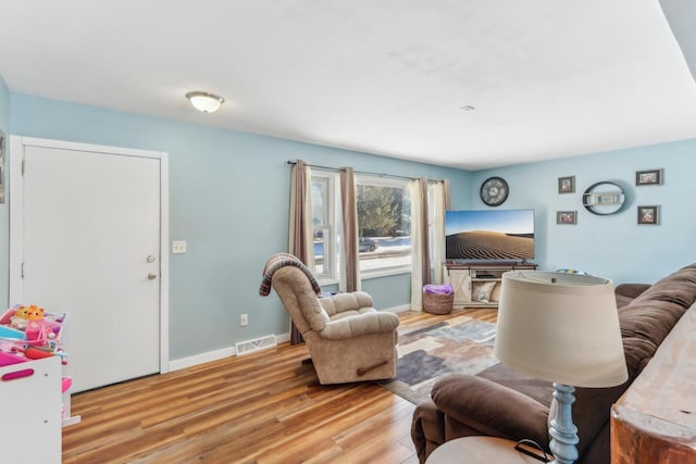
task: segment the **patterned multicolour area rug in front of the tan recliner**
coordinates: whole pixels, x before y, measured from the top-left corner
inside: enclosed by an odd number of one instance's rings
[[[378,384],[419,404],[442,376],[477,374],[498,364],[493,355],[495,335],[495,324],[469,316],[400,334],[396,379]]]

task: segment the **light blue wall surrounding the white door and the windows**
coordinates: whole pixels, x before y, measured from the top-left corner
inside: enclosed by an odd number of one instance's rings
[[[449,178],[452,203],[464,208],[471,202],[471,173],[459,170],[27,95],[12,93],[11,104],[13,135],[170,153],[171,239],[188,241],[186,254],[171,255],[172,360],[288,331],[275,293],[258,294],[266,259],[287,250],[288,160]],[[7,239],[2,246],[7,248]],[[410,300],[408,275],[370,280],[365,287],[377,308]],[[249,314],[246,328],[238,324],[243,313]]]

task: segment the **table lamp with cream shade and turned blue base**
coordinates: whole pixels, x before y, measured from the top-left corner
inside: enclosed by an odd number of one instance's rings
[[[517,372],[554,383],[558,407],[549,426],[551,453],[559,464],[575,462],[575,387],[613,387],[629,377],[611,280],[505,273],[494,354]]]

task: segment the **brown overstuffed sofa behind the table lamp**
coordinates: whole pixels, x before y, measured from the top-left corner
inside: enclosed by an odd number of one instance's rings
[[[696,264],[658,283],[616,288],[629,380],[612,388],[576,388],[573,422],[577,426],[579,463],[610,462],[611,405],[650,361],[686,311],[696,311]],[[411,438],[425,462],[438,446],[459,437],[484,435],[532,439],[548,451],[552,386],[497,364],[475,375],[438,380],[431,401],[417,406]]]

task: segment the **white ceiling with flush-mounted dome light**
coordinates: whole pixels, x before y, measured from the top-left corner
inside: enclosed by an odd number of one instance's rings
[[[657,0],[13,0],[0,20],[13,92],[386,156],[478,170],[696,137]],[[189,90],[226,102],[198,113]]]

